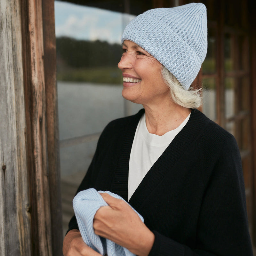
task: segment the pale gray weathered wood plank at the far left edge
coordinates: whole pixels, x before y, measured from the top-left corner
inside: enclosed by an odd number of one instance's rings
[[[0,1],[0,254],[31,255],[20,4]]]

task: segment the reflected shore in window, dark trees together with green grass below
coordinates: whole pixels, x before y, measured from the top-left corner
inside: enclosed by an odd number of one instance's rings
[[[121,44],[56,38],[57,79],[61,81],[100,84],[122,83],[117,68],[122,54]]]

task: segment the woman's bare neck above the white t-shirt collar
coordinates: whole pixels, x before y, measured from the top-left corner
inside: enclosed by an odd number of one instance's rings
[[[188,117],[191,110],[173,102],[169,106],[144,106],[149,133],[163,135],[176,129]]]

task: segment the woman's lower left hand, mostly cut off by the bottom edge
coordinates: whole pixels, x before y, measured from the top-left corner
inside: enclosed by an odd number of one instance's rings
[[[70,230],[64,237],[62,252],[64,256],[101,256],[84,243],[78,229]]]

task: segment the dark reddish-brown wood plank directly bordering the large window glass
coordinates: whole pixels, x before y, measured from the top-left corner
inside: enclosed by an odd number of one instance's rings
[[[59,158],[59,129],[58,103],[56,83],[56,38],[54,1],[42,1],[43,32],[44,32],[44,79],[46,96],[46,121],[49,189],[52,221],[52,254],[62,255],[62,211],[60,190],[60,158]]]

